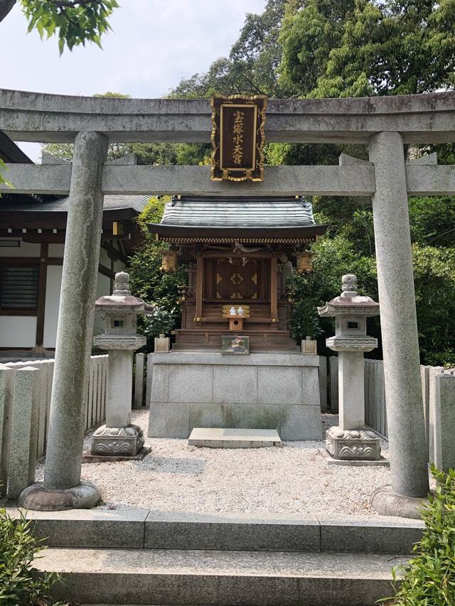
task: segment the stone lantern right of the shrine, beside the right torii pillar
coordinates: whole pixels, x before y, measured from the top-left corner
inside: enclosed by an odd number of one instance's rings
[[[365,431],[363,352],[378,347],[367,335],[367,318],[379,315],[379,303],[357,293],[357,278],[342,278],[342,293],[323,307],[319,315],[335,318],[335,336],[326,340],[338,352],[339,426],[326,431],[326,448],[334,459],[380,460],[380,441]]]

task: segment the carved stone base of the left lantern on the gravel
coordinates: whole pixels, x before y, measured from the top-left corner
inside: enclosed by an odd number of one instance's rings
[[[137,425],[106,427],[92,435],[92,455],[135,457],[144,446],[144,433]]]

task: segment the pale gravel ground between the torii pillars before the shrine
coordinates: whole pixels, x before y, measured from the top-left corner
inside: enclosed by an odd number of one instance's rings
[[[148,417],[147,410],[132,413],[144,435]],[[323,428],[337,421],[335,415],[322,416]],[[100,488],[103,509],[375,516],[370,495],[390,482],[387,467],[327,465],[318,452],[322,440],[232,450],[164,438],[146,438],[146,445],[151,453],[142,461],[82,465],[82,478]],[[387,450],[382,453],[387,456]],[[42,479],[41,464],[37,480]]]

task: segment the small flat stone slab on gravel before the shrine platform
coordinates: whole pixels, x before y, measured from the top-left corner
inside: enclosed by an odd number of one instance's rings
[[[281,446],[276,429],[235,429],[195,427],[188,438],[189,446],[205,448],[264,448]]]

